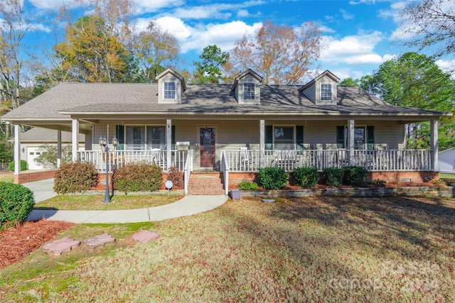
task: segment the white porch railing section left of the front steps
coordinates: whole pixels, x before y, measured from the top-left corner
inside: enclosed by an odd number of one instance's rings
[[[183,172],[188,150],[172,150],[171,165]],[[106,172],[106,153],[101,150],[78,150],[77,159],[82,162],[91,162],[98,172]],[[148,162],[159,165],[163,171],[167,170],[166,150],[116,150],[107,156],[109,171],[132,162]]]

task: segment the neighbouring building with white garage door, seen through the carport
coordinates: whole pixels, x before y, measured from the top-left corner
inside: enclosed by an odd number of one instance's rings
[[[77,137],[79,142],[79,150],[85,149],[85,136],[80,134]],[[21,159],[28,163],[28,170],[44,170],[40,164],[35,162],[35,159],[41,155],[41,146],[44,144],[57,145],[58,131],[54,129],[46,129],[34,127],[21,134]],[[60,143],[71,144],[71,133],[62,131]]]

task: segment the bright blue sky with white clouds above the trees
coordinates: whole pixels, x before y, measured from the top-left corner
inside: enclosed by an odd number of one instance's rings
[[[409,48],[400,43],[399,10],[405,1],[353,0],[133,0],[137,11],[134,20],[144,28],[150,20],[178,38],[181,45],[181,65],[192,70],[207,45],[218,45],[230,51],[245,33],[254,33],[264,21],[299,27],[313,21],[322,31],[323,50],[317,61],[319,70],[330,70],[341,79],[360,78],[378,69],[380,64],[399,56]],[[30,33],[29,43],[38,49],[55,44],[50,27],[53,13],[66,4],[74,19],[90,13],[90,7],[75,0],[25,0],[26,13],[36,33]],[[45,17],[45,18],[43,18]],[[63,25],[59,26],[63,34]],[[45,45],[43,45],[45,44]],[[441,67],[451,64],[439,61]]]

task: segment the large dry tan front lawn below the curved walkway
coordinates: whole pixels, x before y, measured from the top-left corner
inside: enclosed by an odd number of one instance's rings
[[[453,199],[244,199],[156,223],[154,231],[162,236],[152,243],[36,275],[45,287],[2,277],[0,299],[455,301]],[[52,286],[61,280],[66,287]]]

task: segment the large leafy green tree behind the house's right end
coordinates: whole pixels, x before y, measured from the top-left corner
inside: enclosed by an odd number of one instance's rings
[[[420,109],[455,112],[455,82],[426,55],[405,53],[388,60],[373,75],[361,80],[361,87],[390,104]],[[453,117],[444,117],[439,127],[440,147],[455,144]],[[411,124],[407,138],[414,148],[429,147],[429,127],[425,123]]]

